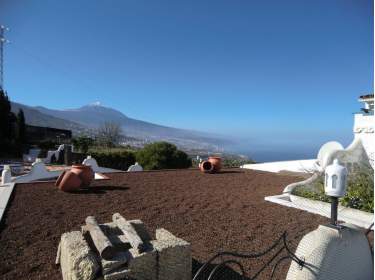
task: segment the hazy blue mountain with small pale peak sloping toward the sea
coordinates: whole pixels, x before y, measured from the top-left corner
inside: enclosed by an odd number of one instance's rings
[[[105,122],[121,126],[127,136],[149,141],[169,141],[189,149],[215,150],[229,143],[228,140],[204,132],[167,127],[129,118],[120,111],[104,107],[99,103],[77,109],[54,110],[41,106],[29,107],[13,103],[12,109],[23,108],[26,122],[34,125],[71,129],[74,134],[96,129]]]

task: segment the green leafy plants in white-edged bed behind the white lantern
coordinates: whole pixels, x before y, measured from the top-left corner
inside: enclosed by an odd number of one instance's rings
[[[348,175],[346,194],[340,204],[346,207],[374,212],[374,170],[371,167],[359,166]],[[296,187],[292,194],[314,200],[330,202],[324,192],[324,176],[320,176],[312,185]]]

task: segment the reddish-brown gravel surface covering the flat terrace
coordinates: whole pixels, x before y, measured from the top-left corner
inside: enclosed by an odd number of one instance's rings
[[[107,221],[115,212],[141,219],[150,232],[163,227],[192,244],[193,268],[222,250],[255,252],[284,231],[294,250],[328,219],[264,200],[301,178],[227,169],[107,174],[88,191],[64,193],[53,182],[18,184],[0,228],[1,279],[61,279],[54,264],[64,232],[80,230],[89,215]],[[267,259],[246,263],[254,272]],[[285,279],[289,263],[277,279]],[[270,269],[257,279],[268,279]]]

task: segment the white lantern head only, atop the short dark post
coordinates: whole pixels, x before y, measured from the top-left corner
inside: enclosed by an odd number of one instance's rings
[[[325,170],[325,193],[333,197],[345,196],[347,175],[346,167],[340,165],[339,161],[335,159],[333,164],[327,166]]]

